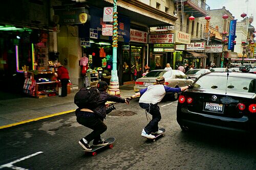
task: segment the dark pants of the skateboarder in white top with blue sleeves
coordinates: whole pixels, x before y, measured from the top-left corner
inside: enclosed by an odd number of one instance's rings
[[[158,122],[161,120],[160,108],[157,104],[139,103],[142,109],[145,109],[152,115],[152,120],[144,128],[147,134],[158,131]]]

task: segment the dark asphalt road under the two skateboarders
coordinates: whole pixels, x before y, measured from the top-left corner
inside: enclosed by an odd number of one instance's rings
[[[140,136],[147,119],[138,99],[115,106],[102,135],[116,138],[113,149],[94,157],[84,154],[78,140],[91,130],[70,113],[0,131],[0,169],[256,169],[255,141],[203,130],[182,132],[176,122],[177,101],[159,104],[159,127],[166,133],[156,142]]]

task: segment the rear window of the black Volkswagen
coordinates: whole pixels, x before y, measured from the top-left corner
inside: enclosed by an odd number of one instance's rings
[[[228,77],[227,80],[226,76],[205,75],[195,82],[194,87],[255,93],[255,81],[252,78]]]

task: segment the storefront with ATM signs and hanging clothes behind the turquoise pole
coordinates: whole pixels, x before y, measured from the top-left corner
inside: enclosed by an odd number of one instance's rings
[[[79,38],[80,44],[82,46],[82,57],[88,58],[88,66],[85,66],[86,68],[81,66],[81,82],[83,84],[83,79],[85,75],[84,72],[86,72],[84,69],[90,69],[94,72],[97,72],[98,68],[102,69],[102,76],[99,77],[99,79],[110,83],[111,70],[113,66],[113,23],[103,22],[102,13],[103,10],[91,6],[90,22],[84,25],[79,25]],[[122,46],[130,42],[130,19],[128,17],[118,15],[117,31],[117,71],[120,83],[123,79],[122,69],[124,65],[124,60],[127,64],[128,62],[126,60],[130,57],[130,49],[127,50],[126,48],[124,48],[124,50],[122,50]],[[128,46],[130,45],[128,44]]]

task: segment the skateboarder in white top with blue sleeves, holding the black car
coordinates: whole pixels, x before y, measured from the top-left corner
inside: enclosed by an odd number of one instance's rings
[[[161,134],[163,131],[158,129],[158,122],[161,120],[161,113],[158,103],[161,102],[166,92],[181,92],[190,87],[191,85],[184,87],[168,87],[164,85],[165,80],[163,76],[159,76],[156,79],[156,85],[148,86],[147,88],[141,89],[134,95],[126,98],[129,102],[136,96],[140,96],[139,106],[145,109],[147,113],[152,115],[152,120],[142,129],[141,136],[154,139],[153,134]]]

